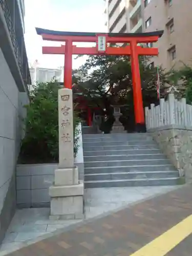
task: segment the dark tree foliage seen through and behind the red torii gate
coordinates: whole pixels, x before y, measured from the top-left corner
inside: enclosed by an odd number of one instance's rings
[[[143,106],[158,102],[157,70],[146,65],[143,57],[139,58]],[[75,90],[80,92],[90,107],[98,106],[105,111],[109,119],[113,115],[111,105],[126,105],[122,112],[125,123],[134,123],[133,86],[131,59],[129,56],[89,56],[78,72],[84,74],[79,79]],[[165,77],[160,68],[160,78]],[[110,125],[113,120],[110,119]]]

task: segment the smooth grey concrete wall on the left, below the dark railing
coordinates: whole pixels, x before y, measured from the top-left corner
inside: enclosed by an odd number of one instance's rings
[[[27,94],[19,93],[0,49],[0,243],[14,214],[15,166],[22,138],[23,104]]]

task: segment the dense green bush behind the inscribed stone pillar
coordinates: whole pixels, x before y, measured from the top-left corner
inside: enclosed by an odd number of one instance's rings
[[[19,161],[27,163],[58,162],[58,89],[56,81],[39,83],[30,93],[26,106],[25,138]],[[77,153],[77,124],[74,111],[74,154]]]

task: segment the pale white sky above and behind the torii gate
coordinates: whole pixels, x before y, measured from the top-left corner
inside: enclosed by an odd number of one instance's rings
[[[43,41],[36,34],[35,27],[59,31],[106,32],[104,5],[104,0],[25,0],[25,42],[29,63],[32,65],[37,59],[39,67],[64,66],[63,55],[41,53],[42,46],[60,46],[61,43]],[[73,68],[78,68],[85,60],[86,56],[77,60],[73,58]]]

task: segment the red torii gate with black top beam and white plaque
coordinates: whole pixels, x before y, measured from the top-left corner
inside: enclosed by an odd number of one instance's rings
[[[64,86],[72,89],[72,55],[131,55],[132,82],[136,130],[145,127],[141,78],[139,71],[139,55],[158,55],[157,48],[143,48],[139,43],[157,42],[163,31],[149,33],[86,33],[63,32],[36,28],[43,40],[65,41],[60,47],[42,47],[43,54],[65,54]],[[73,42],[96,42],[96,47],[76,47]],[[129,43],[126,47],[110,47],[108,43]]]

